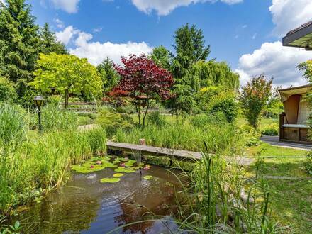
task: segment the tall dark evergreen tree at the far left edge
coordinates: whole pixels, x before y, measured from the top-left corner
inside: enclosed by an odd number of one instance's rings
[[[33,70],[40,51],[39,27],[30,14],[25,0],[6,0],[0,8],[0,50],[3,74],[18,83],[18,95],[23,96],[27,83],[33,80]]]

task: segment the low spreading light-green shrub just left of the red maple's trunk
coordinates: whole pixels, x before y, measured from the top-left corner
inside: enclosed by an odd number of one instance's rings
[[[116,130],[133,127],[132,119],[126,114],[109,111],[107,108],[102,108],[99,111],[99,116],[96,118],[96,123],[105,129],[107,135],[111,137]]]

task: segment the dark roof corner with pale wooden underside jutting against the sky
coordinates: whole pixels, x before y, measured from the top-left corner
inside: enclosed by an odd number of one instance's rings
[[[289,31],[283,38],[283,45],[312,50],[312,21]]]

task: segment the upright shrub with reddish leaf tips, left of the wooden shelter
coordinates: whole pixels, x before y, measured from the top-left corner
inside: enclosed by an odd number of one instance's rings
[[[240,104],[248,123],[258,128],[264,108],[271,96],[272,79],[267,80],[264,74],[253,77],[240,91]]]

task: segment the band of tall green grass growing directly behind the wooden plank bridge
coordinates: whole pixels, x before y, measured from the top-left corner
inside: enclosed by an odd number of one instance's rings
[[[178,150],[204,150],[206,142],[210,153],[226,152],[232,155],[242,140],[233,124],[215,116],[193,116],[176,123],[155,124],[144,128],[135,126],[130,130],[118,129],[113,140],[138,144],[145,138],[147,145],[170,147]]]

